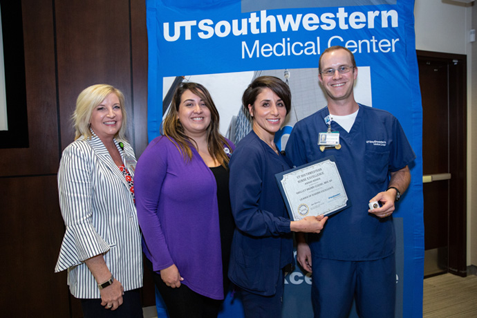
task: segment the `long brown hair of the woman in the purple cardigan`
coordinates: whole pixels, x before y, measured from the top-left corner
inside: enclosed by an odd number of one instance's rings
[[[177,149],[183,154],[184,160],[191,160],[192,151],[190,145],[194,140],[191,140],[184,131],[183,125],[178,120],[180,98],[185,91],[191,91],[200,99],[203,100],[207,109],[210,111],[210,124],[207,127],[207,150],[212,158],[216,159],[223,167],[229,162],[229,157],[224,151],[224,146],[227,146],[230,151],[232,147],[228,144],[227,140],[218,131],[219,115],[212,100],[212,97],[203,85],[193,82],[185,82],[180,84],[174,92],[171,106],[164,119],[162,128],[164,129],[164,135],[176,144]]]

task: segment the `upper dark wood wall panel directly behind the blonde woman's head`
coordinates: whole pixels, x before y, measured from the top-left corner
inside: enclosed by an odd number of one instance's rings
[[[62,149],[73,141],[71,114],[87,86],[119,88],[131,113],[129,1],[55,1]],[[129,130],[130,131],[130,130]]]

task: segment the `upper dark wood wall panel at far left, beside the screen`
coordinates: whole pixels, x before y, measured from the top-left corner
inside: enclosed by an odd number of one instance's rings
[[[51,1],[22,1],[30,147],[0,149],[0,176],[56,174],[55,46]],[[6,92],[8,94],[8,92]]]

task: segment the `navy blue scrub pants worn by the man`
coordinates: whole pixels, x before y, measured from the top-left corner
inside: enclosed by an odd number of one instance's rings
[[[394,254],[376,261],[336,261],[312,256],[312,266],[315,318],[347,318],[353,298],[359,317],[394,317]]]

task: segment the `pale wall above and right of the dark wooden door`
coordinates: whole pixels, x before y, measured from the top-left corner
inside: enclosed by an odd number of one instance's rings
[[[476,58],[472,58],[469,30],[472,13],[477,18],[476,4],[451,0],[415,0],[415,45],[418,50],[467,55],[467,265],[477,265],[477,89],[472,90],[472,79],[477,82]],[[474,28],[476,23],[474,22]],[[477,49],[474,48],[474,55]],[[472,71],[474,70],[474,71]],[[474,99],[472,96],[474,95]],[[473,102],[474,100],[474,102]],[[474,106],[474,107],[473,107]]]

